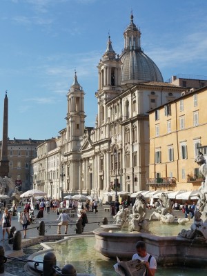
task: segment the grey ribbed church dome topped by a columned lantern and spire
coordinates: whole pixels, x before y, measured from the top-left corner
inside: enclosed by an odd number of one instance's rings
[[[144,54],[140,46],[141,32],[133,22],[131,14],[130,24],[124,32],[124,50],[121,53],[121,82],[137,83],[142,81],[163,82],[163,77],[157,65]]]

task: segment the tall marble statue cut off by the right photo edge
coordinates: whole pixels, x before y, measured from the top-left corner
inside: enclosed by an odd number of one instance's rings
[[[199,172],[205,177],[205,181],[199,187],[197,197],[196,210],[194,213],[194,221],[189,230],[181,230],[178,237],[186,237],[187,239],[204,238],[207,239],[207,164],[204,155],[197,155],[195,162],[200,166]]]

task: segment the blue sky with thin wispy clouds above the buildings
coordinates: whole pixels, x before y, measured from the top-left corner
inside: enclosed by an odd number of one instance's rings
[[[10,139],[50,139],[66,127],[74,72],[85,95],[86,126],[95,126],[97,65],[121,54],[130,13],[141,48],[166,81],[207,76],[206,0],[0,0],[0,139],[8,90]]]

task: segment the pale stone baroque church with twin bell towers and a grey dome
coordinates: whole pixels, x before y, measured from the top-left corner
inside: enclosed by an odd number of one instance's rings
[[[103,199],[115,189],[146,189],[149,175],[148,111],[181,95],[181,86],[166,83],[141,48],[141,32],[130,17],[124,50],[117,55],[108,37],[98,64],[97,118],[85,126],[85,92],[75,72],[67,95],[66,128],[37,147],[32,160],[34,188],[49,197],[81,193]]]

